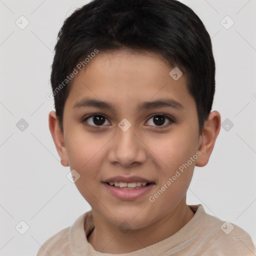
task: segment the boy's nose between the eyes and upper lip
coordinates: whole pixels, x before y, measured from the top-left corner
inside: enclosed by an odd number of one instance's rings
[[[116,127],[116,135],[111,140],[108,153],[110,163],[128,167],[145,162],[145,145],[137,133],[132,125],[126,131]]]

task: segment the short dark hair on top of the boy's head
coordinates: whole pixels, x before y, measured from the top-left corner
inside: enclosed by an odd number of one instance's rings
[[[121,48],[156,52],[170,67],[183,72],[196,103],[201,133],[215,92],[212,45],[200,18],[177,0],[92,0],[64,20],[50,77],[60,129],[72,82],[67,75],[80,61],[85,66],[85,58],[95,49]]]

